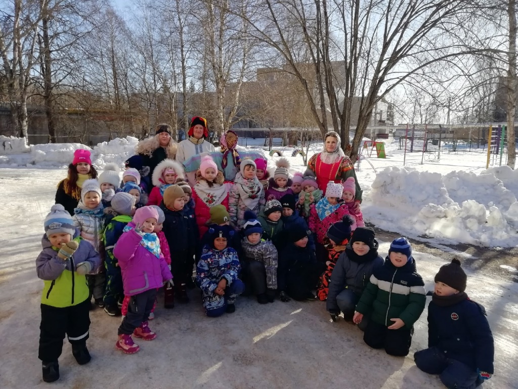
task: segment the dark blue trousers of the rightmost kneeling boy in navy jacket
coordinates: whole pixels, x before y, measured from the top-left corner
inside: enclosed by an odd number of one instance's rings
[[[415,365],[428,374],[439,374],[449,389],[474,389],[482,383],[477,371],[458,360],[447,358],[437,347],[414,353]]]

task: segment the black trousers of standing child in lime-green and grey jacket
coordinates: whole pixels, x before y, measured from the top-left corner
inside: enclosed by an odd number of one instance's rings
[[[65,335],[71,344],[85,344],[90,328],[89,311],[89,300],[65,308],[41,304],[38,358],[45,363],[57,360],[63,350]]]

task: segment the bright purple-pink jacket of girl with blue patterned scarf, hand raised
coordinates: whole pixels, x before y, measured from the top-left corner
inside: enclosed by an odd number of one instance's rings
[[[162,287],[172,279],[172,274],[162,254],[157,258],[140,244],[142,237],[133,229],[135,224],[130,222],[128,226],[132,230],[121,235],[113,255],[119,260],[124,295],[135,296]]]

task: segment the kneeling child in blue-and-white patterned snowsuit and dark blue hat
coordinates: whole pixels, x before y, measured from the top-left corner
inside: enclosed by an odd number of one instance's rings
[[[237,252],[227,247],[234,233],[230,226],[215,224],[206,232],[210,243],[203,249],[196,267],[196,281],[203,291],[205,313],[210,317],[235,312],[236,297],[244,290],[244,284],[237,277],[241,270]]]

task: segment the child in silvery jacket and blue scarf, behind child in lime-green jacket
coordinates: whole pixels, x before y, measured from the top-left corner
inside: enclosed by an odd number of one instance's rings
[[[103,231],[104,231],[104,207],[101,203],[102,193],[96,179],[87,179],[81,189],[81,201],[74,211],[74,227],[81,231],[81,238],[89,242],[99,253],[99,258],[104,256]],[[104,308],[104,287],[106,276],[103,263],[92,269],[92,274],[87,274],[90,300],[92,296],[99,308]],[[89,300],[89,301],[90,301]]]

